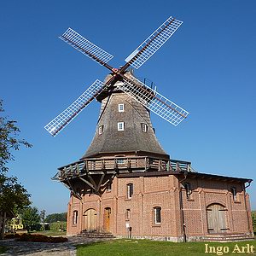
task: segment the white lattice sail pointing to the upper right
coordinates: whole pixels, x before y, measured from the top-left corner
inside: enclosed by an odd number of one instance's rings
[[[158,29],[156,29],[142,44],[140,44],[137,49],[135,49],[131,55],[129,55],[125,61],[129,62],[131,59],[136,56],[143,48],[141,54],[138,54],[135,61],[131,61],[131,66],[139,68],[148,61],[148,59],[154,55],[154,53],[160,49],[160,47],[166,43],[166,41],[172,37],[173,33],[177,31],[177,28],[181,26],[183,21],[175,20],[169,17]],[[150,42],[151,41],[151,42]]]

